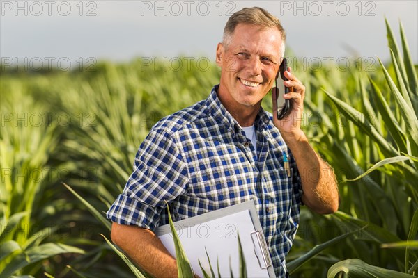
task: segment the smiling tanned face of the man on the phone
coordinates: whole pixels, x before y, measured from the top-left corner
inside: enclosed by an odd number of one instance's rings
[[[228,45],[218,44],[222,67],[218,95],[231,112],[261,104],[272,88],[281,62],[281,35],[277,28],[238,24]],[[238,109],[238,110],[237,110]]]

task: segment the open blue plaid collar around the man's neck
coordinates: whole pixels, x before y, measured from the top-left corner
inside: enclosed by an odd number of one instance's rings
[[[218,88],[219,84],[213,86],[208,99],[206,99],[206,107],[208,108],[210,114],[215,117],[217,122],[227,126],[230,131],[238,132],[240,125],[226,110],[224,104],[222,104],[221,100],[217,96]],[[258,111],[258,115],[256,116],[254,125],[256,126],[256,129],[261,130],[267,128],[268,124],[270,124],[270,116],[261,107],[260,111]]]

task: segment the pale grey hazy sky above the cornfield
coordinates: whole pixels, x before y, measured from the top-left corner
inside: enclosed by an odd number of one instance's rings
[[[389,60],[385,17],[399,21],[418,63],[418,1],[0,1],[2,67],[81,67],[138,57],[215,60],[229,16],[260,6],[277,16],[286,47],[305,63]]]

